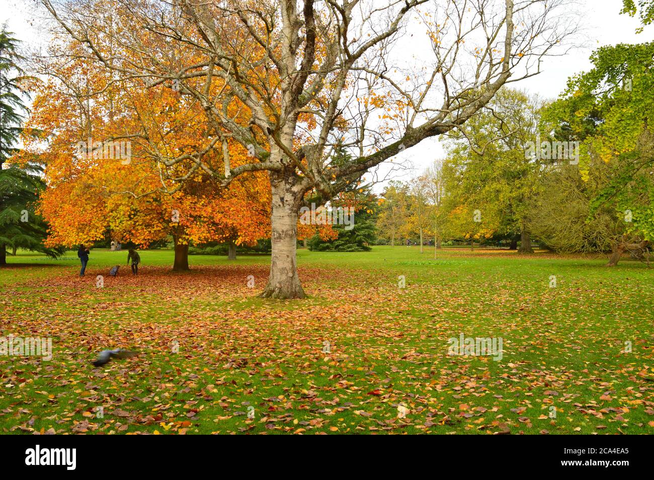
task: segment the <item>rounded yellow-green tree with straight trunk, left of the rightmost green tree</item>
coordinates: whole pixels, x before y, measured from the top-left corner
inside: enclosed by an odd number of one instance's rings
[[[532,253],[530,199],[538,193],[543,164],[562,162],[543,160],[526,154],[528,142],[535,142],[542,102],[524,92],[503,88],[458,135],[450,135],[448,162],[458,173],[449,180],[458,185],[462,203],[475,203],[485,214],[500,218],[498,233],[521,239],[519,251]],[[547,137],[542,135],[543,140]],[[451,196],[451,192],[449,193]]]

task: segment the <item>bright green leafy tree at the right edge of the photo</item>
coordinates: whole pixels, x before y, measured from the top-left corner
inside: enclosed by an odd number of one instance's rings
[[[625,250],[654,241],[654,43],[604,46],[591,61],[546,116],[557,135],[581,143],[583,180],[593,179],[597,161],[610,167],[601,188],[591,189],[589,215],[609,209],[619,219],[608,262],[615,266]]]

